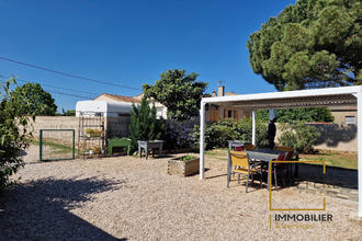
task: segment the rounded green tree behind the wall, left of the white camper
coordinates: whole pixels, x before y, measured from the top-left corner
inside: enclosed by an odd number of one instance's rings
[[[16,107],[20,108],[22,114],[56,115],[57,105],[55,100],[38,83],[25,83],[16,87],[11,95],[19,100]]]

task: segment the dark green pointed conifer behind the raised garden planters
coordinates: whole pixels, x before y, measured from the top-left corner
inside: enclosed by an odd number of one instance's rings
[[[156,140],[166,135],[166,124],[163,119],[156,118],[156,107],[149,107],[149,102],[145,95],[140,105],[133,104],[131,112],[129,139],[132,150],[138,148],[137,140]]]

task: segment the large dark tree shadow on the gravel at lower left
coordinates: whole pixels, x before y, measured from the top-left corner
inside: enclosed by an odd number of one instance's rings
[[[92,194],[121,188],[124,181],[52,180],[20,184],[0,193],[0,240],[117,239],[70,213]]]

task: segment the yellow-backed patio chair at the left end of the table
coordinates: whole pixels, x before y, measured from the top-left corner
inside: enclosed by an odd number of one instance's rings
[[[246,192],[248,193],[249,177],[251,175],[251,180],[253,183],[253,174],[257,174],[259,171],[256,169],[256,165],[260,163],[251,162],[248,153],[242,151],[229,151],[228,153],[228,163],[227,163],[227,187],[229,187],[230,175],[231,173],[238,174],[238,183],[240,183],[240,174],[247,175],[247,187]],[[233,167],[235,167],[233,169]],[[260,180],[260,185],[261,185]]]

